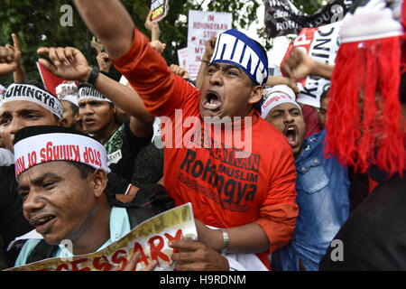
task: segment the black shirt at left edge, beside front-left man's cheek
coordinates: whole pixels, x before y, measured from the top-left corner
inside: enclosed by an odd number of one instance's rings
[[[14,164],[0,167],[0,235],[5,247],[33,229],[23,216],[23,200],[16,189]]]

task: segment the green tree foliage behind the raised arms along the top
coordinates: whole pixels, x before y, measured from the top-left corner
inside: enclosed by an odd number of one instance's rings
[[[262,0],[171,0],[169,14],[160,22],[161,42],[167,44],[163,57],[168,62],[178,63],[177,51],[187,46],[189,10],[212,12],[229,12],[233,14],[235,28],[248,28],[257,19],[256,10]],[[293,1],[300,10],[312,14],[322,0]],[[150,32],[144,27],[145,18],[149,12],[151,0],[122,0],[136,27],[147,36]],[[73,7],[73,25],[62,27],[60,12],[62,5]],[[93,35],[78,15],[71,0],[2,0],[0,11],[0,45],[12,43],[11,33],[16,33],[23,52],[23,67],[27,79],[41,81],[36,67],[39,55],[36,53],[41,46],[73,46],[82,51],[92,65],[96,65],[96,51],[91,47]],[[115,79],[118,72],[112,71]],[[0,77],[0,83],[13,81],[13,76]]]

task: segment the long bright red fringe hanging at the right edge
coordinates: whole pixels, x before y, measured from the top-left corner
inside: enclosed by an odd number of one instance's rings
[[[338,50],[328,103],[327,154],[337,154],[355,172],[366,172],[371,164],[390,173],[405,168],[400,48],[399,37],[392,37],[343,43]]]

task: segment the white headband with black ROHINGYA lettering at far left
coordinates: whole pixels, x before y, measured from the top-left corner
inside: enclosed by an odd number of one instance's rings
[[[63,107],[60,100],[51,93],[43,89],[39,89],[36,86],[13,83],[5,90],[5,94],[1,98],[0,105],[16,100],[31,101],[51,111],[51,113],[59,118],[62,118],[63,116]]]

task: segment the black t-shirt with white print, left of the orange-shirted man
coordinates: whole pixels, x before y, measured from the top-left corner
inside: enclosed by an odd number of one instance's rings
[[[109,168],[112,172],[131,182],[134,175],[135,157],[140,150],[151,143],[151,136],[140,138],[130,130],[130,122],[117,128],[115,133],[103,144],[107,151]]]

